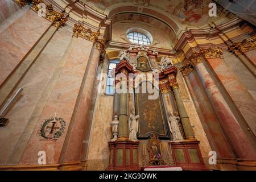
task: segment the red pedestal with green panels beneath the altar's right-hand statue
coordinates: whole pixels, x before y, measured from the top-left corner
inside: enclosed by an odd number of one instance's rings
[[[198,140],[169,142],[175,166],[179,166],[183,170],[209,170],[204,164],[199,143],[200,141]]]

